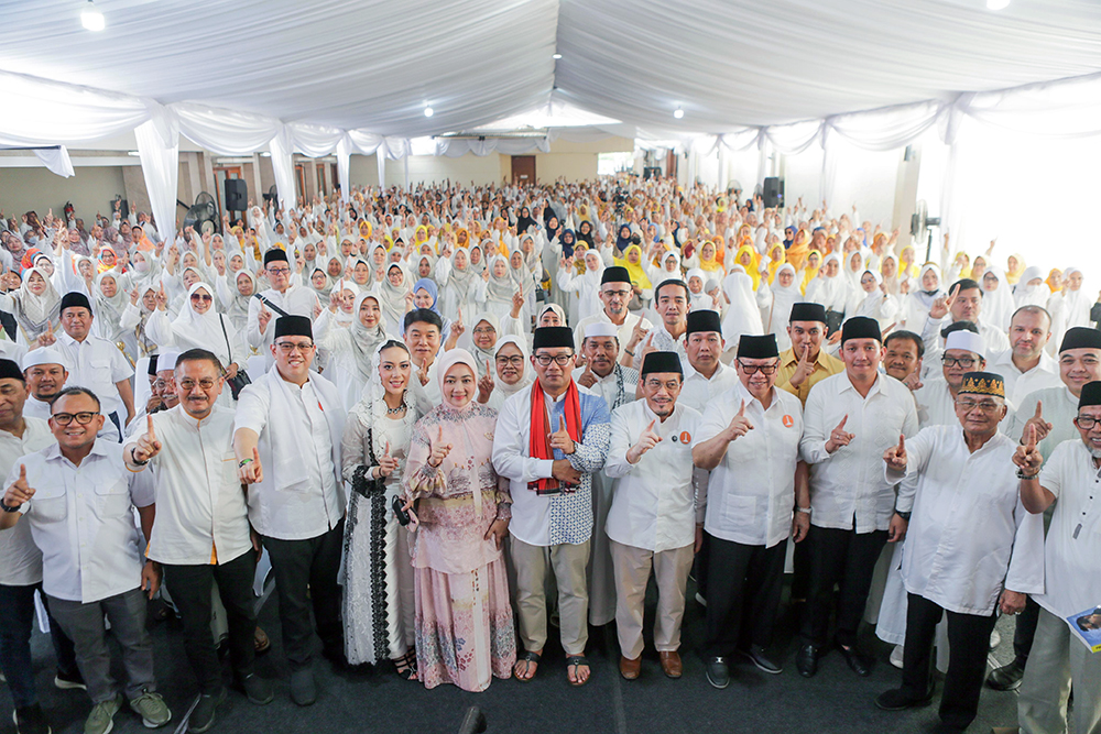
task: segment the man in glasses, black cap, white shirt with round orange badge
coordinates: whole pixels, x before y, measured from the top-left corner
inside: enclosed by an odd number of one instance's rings
[[[781,672],[765,656],[784,580],[791,535],[810,527],[807,467],[799,461],[803,406],[776,388],[775,335],[742,335],[738,382],[708,405],[693,443],[696,465],[711,471],[696,499],[696,537],[708,544],[707,679],[730,682],[734,653]],[[793,517],[794,515],[794,517]]]

